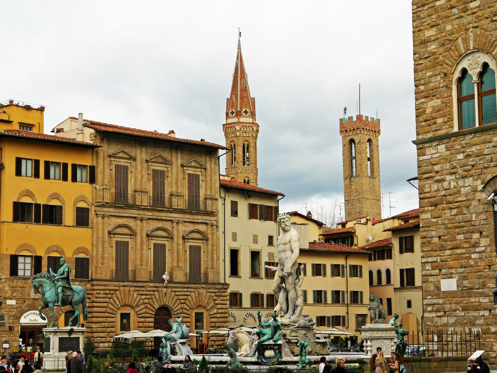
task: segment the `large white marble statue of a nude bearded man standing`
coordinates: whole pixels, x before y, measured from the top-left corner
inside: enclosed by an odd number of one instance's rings
[[[278,216],[278,225],[283,231],[278,237],[278,266],[273,281],[273,292],[278,300],[274,312],[285,319],[297,319],[302,313],[303,295],[299,276],[299,234],[292,228],[290,215]]]

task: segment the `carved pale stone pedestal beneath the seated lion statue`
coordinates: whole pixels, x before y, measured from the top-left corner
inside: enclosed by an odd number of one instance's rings
[[[364,341],[364,357],[376,354],[376,348],[381,347],[385,356],[395,351],[395,331],[397,328],[390,324],[366,324],[361,331],[361,340]]]

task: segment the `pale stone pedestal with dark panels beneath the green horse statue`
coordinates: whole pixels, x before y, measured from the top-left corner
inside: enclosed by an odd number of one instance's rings
[[[48,369],[66,370],[66,353],[68,350],[83,352],[83,336],[86,328],[44,328],[45,352],[43,353],[43,371]]]

